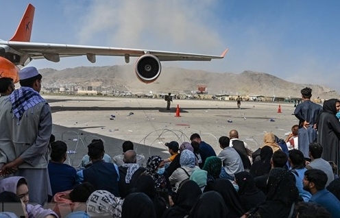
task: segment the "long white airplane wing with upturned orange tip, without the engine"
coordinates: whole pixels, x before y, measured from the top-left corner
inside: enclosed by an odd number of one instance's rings
[[[223,58],[228,49],[223,51],[221,56],[209,56],[197,53],[180,53],[171,51],[155,51],[147,49],[126,49],[117,47],[96,47],[86,45],[67,45],[67,44],[51,44],[51,43],[30,43],[17,41],[0,41],[0,45],[8,45],[19,53],[25,53],[32,59],[42,59],[53,62],[59,62],[62,57],[73,56],[87,56],[90,62],[95,62],[95,56],[124,56],[141,57],[144,54],[151,54],[160,61],[174,61],[174,60],[199,60],[209,61],[212,59]]]

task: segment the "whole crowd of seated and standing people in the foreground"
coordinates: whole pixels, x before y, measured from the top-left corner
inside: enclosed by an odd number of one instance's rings
[[[19,77],[15,90],[0,79],[0,217],[340,216],[337,99],[319,106],[302,89],[298,125],[285,139],[267,132],[256,151],[237,130],[219,138],[219,154],[195,133],[166,143],[165,159],[136,154],[131,141],[110,157],[93,139],[73,167],[52,134],[42,76],[26,67]]]

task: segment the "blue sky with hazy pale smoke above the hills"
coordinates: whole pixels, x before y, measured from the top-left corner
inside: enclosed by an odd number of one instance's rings
[[[209,55],[220,55],[228,47],[223,60],[162,65],[217,73],[258,71],[340,93],[340,1],[4,1],[1,39],[12,37],[27,3],[36,7],[32,42]],[[34,60],[30,65],[65,69],[114,64],[124,64],[124,58],[97,56],[91,64],[84,56],[58,63]]]

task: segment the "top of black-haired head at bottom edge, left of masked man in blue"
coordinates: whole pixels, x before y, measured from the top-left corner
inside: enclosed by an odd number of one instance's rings
[[[323,206],[314,202],[300,202],[297,212],[299,218],[332,218],[332,215]]]

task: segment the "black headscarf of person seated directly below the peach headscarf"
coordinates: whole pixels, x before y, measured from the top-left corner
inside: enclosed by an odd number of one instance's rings
[[[250,174],[252,176],[258,177],[260,175],[266,175],[269,173],[271,169],[271,156],[273,156],[273,149],[270,146],[264,146],[260,150],[260,160],[257,160],[253,163],[250,168]]]

